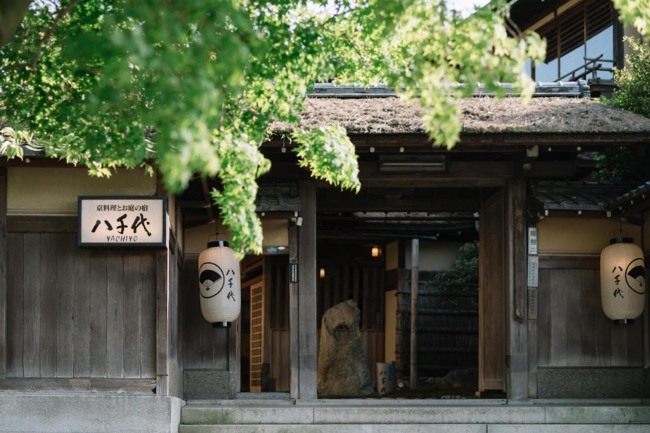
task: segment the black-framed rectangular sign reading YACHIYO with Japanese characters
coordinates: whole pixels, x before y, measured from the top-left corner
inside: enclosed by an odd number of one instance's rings
[[[79,246],[165,246],[164,196],[79,196]]]

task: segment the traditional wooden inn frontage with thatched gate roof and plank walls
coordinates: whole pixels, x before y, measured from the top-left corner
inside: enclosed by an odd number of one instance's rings
[[[419,374],[473,365],[479,395],[515,401],[650,397],[647,313],[615,324],[599,285],[599,254],[621,224],[650,251],[650,187],[591,178],[594,151],[645,152],[650,120],[591,100],[584,81],[538,83],[525,106],[485,92],[460,105],[461,140],[446,150],[432,148],[419,109],[390,89],[317,85],[301,126],[348,129],[358,194],[310,178],[282,138],[291,128],[272,125],[257,200],[264,254],[241,263],[231,328],[205,321],[198,296],[198,254],[219,223],[214,179],[173,196],[138,170],[90,178],[27,145],[23,161],[0,160],[0,430],[176,431],[181,421],[244,423],[237,407],[214,415],[182,408],[186,400],[312,401],[320,319],[348,299],[361,310],[371,375],[394,360],[403,377],[409,269],[419,264],[427,281],[468,241],[480,249],[478,286],[460,296],[469,301],[450,307],[437,287],[418,291]],[[79,196],[99,213],[164,198],[160,242],[86,245]],[[106,196],[118,202],[92,202]],[[278,421],[262,412],[259,422]],[[647,422],[643,413],[634,422]]]

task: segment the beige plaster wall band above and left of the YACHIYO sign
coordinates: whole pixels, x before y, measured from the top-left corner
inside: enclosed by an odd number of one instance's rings
[[[157,179],[144,170],[118,168],[91,177],[83,168],[8,167],[8,215],[77,215],[77,196],[156,194]]]

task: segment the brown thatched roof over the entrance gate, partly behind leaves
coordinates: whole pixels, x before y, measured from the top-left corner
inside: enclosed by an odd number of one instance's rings
[[[582,98],[460,99],[463,133],[647,133],[650,119]],[[422,110],[399,98],[309,98],[300,127],[340,124],[352,134],[423,133]],[[293,127],[271,125],[274,133]]]

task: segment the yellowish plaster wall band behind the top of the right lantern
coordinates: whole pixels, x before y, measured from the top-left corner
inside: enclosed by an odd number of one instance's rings
[[[616,218],[544,218],[537,224],[539,254],[558,256],[599,256],[609,245]],[[641,244],[641,228],[623,224],[634,243]]]

